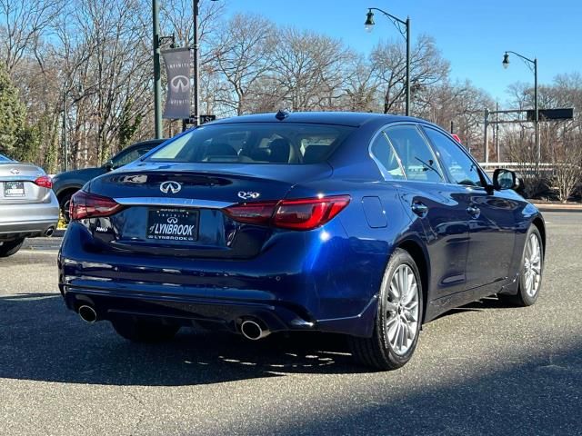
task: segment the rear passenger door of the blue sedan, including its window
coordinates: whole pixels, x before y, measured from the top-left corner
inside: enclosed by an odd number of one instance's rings
[[[468,251],[467,199],[462,189],[446,184],[435,154],[416,124],[386,129],[406,173],[398,188],[413,217],[425,229],[430,257],[432,298],[463,291]]]

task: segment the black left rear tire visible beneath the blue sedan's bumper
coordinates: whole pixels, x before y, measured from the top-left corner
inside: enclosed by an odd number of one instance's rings
[[[111,323],[117,334],[131,342],[167,342],[180,330],[179,325],[135,317],[119,317],[111,320]]]

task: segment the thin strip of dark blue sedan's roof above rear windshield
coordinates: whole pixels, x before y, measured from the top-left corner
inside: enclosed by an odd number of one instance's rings
[[[406,116],[369,114],[363,112],[292,112],[287,113],[282,120],[276,118],[275,113],[253,114],[234,116],[218,120],[212,124],[232,124],[232,123],[317,123],[317,124],[340,124],[349,126],[360,126],[368,122],[383,120],[384,123],[396,121],[416,120]]]

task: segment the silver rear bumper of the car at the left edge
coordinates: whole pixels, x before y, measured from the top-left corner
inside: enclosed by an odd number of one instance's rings
[[[2,204],[0,239],[42,236],[58,223],[58,202],[50,193],[47,203]]]

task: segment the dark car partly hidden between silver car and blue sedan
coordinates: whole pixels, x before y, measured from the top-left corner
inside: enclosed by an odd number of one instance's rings
[[[61,208],[61,214],[65,223],[69,222],[69,202],[71,196],[83,187],[89,180],[98,175],[115,170],[127,163],[135,161],[157,145],[162,144],[163,139],[152,139],[130,145],[118,154],[115,154],[107,163],[95,168],[83,168],[81,170],[66,171],[59,173],[53,178],[53,191]]]

